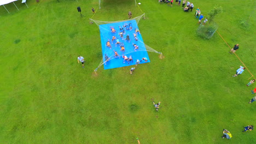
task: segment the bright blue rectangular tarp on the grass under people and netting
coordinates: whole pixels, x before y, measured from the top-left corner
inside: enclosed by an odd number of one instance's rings
[[[123,34],[124,35],[123,39],[121,39],[119,33],[121,31],[123,31],[123,29],[120,30],[119,26],[121,28],[123,28],[125,23],[127,25],[130,24],[132,29],[126,29],[126,27],[124,27],[125,33]],[[116,32],[112,33],[110,27],[114,27]],[[129,26],[127,28],[129,28]],[[119,68],[119,67],[126,67],[129,65],[133,65],[136,63],[137,59],[139,59],[139,61],[140,61],[143,57],[146,57],[148,59],[148,61],[147,62],[142,61],[141,63],[150,62],[150,59],[148,57],[148,52],[144,45],[141,34],[138,32],[136,33],[137,39],[138,39],[137,41],[135,40],[135,37],[133,36],[133,33],[135,33],[136,28],[138,28],[138,26],[137,26],[137,23],[135,20],[100,25],[103,61],[105,61],[105,54],[110,58],[110,60],[106,64],[104,64],[104,69],[112,69],[112,68]],[[129,35],[129,37],[130,37],[130,43],[129,43],[129,41],[125,40],[127,35]],[[121,51],[120,44],[116,44],[117,43],[116,40],[114,40],[112,43],[113,36],[115,36],[117,39],[119,39],[120,43],[124,44],[124,47],[125,47],[124,52]],[[106,45],[108,40],[110,41],[111,49],[110,49],[110,47],[107,47],[107,45]],[[138,46],[138,50],[135,50],[135,47],[133,46],[133,44],[136,44]],[[117,51],[119,57],[114,57],[114,51]],[[127,57],[129,57],[131,55],[133,62],[130,62],[130,64],[128,64],[127,61],[124,62],[124,58],[122,57],[123,54]]]

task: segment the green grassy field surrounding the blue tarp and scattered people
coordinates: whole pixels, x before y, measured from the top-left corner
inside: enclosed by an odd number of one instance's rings
[[[256,121],[247,70],[232,77],[241,62],[215,33],[196,36],[196,7],[202,14],[218,4],[215,21],[252,74],[255,70],[255,4],[246,1],[193,1],[181,6],[140,0],[139,21],[150,63],[104,70],[100,32],[89,23],[97,0],[21,1],[0,8],[0,143],[256,143]],[[80,18],[80,6],[85,17]],[[134,1],[104,1],[96,20],[118,21],[142,11]],[[242,26],[241,22],[247,25]],[[77,56],[85,58],[85,68]],[[161,101],[156,112],[152,100]],[[232,139],[222,139],[228,129]]]

